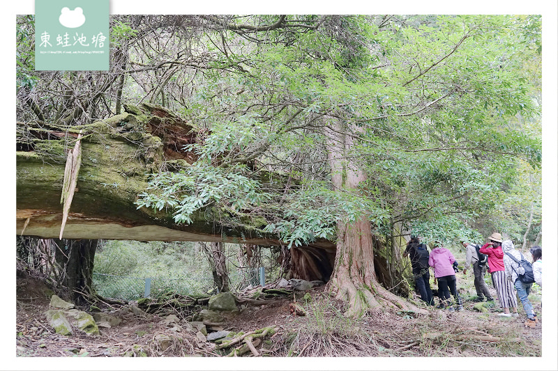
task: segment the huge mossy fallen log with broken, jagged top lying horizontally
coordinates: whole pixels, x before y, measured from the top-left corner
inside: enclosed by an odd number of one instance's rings
[[[17,123],[17,235],[282,245],[278,236],[262,232],[266,219],[255,213],[232,214],[220,207],[206,207],[193,215],[193,223],[176,224],[172,211],[138,209],[138,195],[146,191],[150,175],[190,166],[196,155],[183,147],[202,139],[193,125],[161,106],[142,104],[125,109],[120,115],[86,125]],[[66,159],[78,140],[81,164],[66,216],[60,204]],[[287,181],[282,175],[261,173],[264,182],[275,184],[273,187],[282,187]],[[296,248],[295,255],[291,276],[326,281],[335,244],[318,239]]]

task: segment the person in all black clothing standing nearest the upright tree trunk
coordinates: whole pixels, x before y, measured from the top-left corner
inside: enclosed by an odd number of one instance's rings
[[[432,297],[432,290],[430,289],[430,266],[428,265],[430,254],[428,253],[428,248],[425,244],[421,244],[418,237],[411,236],[411,240],[407,242],[404,255],[409,255],[411,260],[414,285],[421,295],[421,299],[429,306],[433,306],[434,297]]]

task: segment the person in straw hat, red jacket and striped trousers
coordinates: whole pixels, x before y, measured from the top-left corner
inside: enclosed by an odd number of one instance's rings
[[[492,285],[498,294],[500,307],[504,313],[500,317],[518,317],[518,299],[515,298],[515,290],[511,281],[506,279],[504,272],[504,251],[502,251],[502,235],[498,232],[492,233],[488,237],[489,242],[483,245],[478,251],[488,255],[488,269],[492,276]],[[513,313],[510,313],[510,308]]]

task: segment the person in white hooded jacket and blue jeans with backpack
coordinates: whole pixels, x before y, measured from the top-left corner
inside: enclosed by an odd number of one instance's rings
[[[520,251],[515,250],[513,242],[510,239],[506,239],[502,243],[502,251],[504,251],[504,269],[506,272],[506,278],[508,282],[513,283],[515,290],[518,292],[518,297],[523,305],[523,309],[527,314],[527,322],[525,326],[535,327],[537,319],[535,312],[533,310],[533,305],[529,301],[529,292],[531,291],[532,283],[525,283],[519,279],[519,276],[525,274],[525,269],[520,265],[520,261],[524,260],[523,254]],[[511,255],[511,256],[510,256]],[[518,260],[516,262],[515,260]]]

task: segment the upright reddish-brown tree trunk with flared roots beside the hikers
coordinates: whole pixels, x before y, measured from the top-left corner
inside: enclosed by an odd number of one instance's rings
[[[333,125],[327,136],[333,187],[358,194],[366,175],[352,156],[353,136],[349,135],[350,128],[346,125],[335,119],[331,122]],[[349,303],[345,315],[358,317],[368,308],[380,306],[418,310],[378,283],[368,215],[362,215],[355,221],[339,221],[337,230],[335,266],[326,290],[335,298]]]

